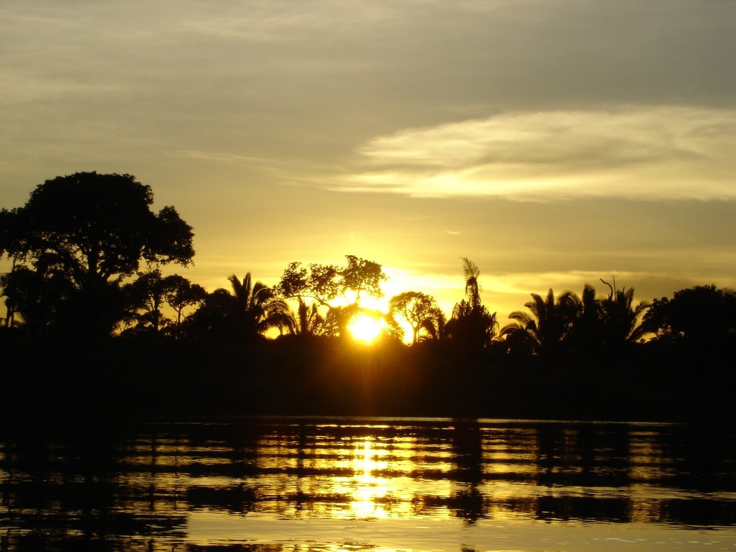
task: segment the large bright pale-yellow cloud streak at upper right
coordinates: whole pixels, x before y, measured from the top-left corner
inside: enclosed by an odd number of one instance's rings
[[[374,138],[333,189],[413,197],[736,197],[736,110],[503,113]]]

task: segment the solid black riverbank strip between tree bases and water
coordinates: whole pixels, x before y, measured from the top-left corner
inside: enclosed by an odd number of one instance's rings
[[[451,344],[4,340],[6,420],[203,416],[732,423],[730,350],[509,358]]]

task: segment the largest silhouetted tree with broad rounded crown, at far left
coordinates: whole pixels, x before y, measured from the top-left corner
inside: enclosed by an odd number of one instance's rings
[[[151,188],[130,174],[46,180],[24,207],[2,211],[0,252],[44,278],[66,276],[72,289],[57,298],[65,328],[110,333],[124,316],[120,281],[141,260],[187,266],[194,256],[191,227],[173,207],[152,212],[152,202]]]

